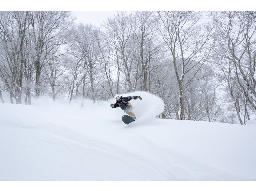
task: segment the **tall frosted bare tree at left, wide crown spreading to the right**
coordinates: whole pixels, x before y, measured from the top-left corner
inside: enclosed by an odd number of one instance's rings
[[[47,61],[68,43],[68,28],[72,25],[70,11],[31,11],[29,14],[36,54],[36,97],[40,96],[40,75]],[[65,54],[61,53],[61,54]]]

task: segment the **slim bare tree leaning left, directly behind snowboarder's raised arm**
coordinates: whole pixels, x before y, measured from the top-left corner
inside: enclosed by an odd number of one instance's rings
[[[125,12],[117,12],[113,17],[107,19],[104,26],[114,38],[117,64],[119,65],[120,63],[120,68],[117,67],[117,69],[120,69],[125,76],[124,85],[126,91],[133,91],[136,88],[138,80],[140,53],[138,53],[138,47],[134,41],[132,20]]]

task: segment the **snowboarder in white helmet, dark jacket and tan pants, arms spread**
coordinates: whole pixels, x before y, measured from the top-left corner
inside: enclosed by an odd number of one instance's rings
[[[116,103],[111,103],[111,107],[112,108],[116,108],[116,107],[121,107],[122,110],[125,111],[125,113],[127,113],[129,116],[131,116],[132,118],[134,118],[136,120],[136,116],[134,115],[134,113],[132,112],[133,107],[131,105],[131,103],[129,102],[131,99],[137,99],[139,98],[140,100],[142,99],[140,96],[128,96],[128,97],[122,97],[119,94],[115,95],[115,99],[116,99]]]

